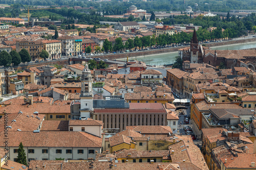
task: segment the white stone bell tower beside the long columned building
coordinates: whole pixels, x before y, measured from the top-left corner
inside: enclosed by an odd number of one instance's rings
[[[81,77],[81,105],[80,105],[80,116],[81,117],[92,117],[93,113],[93,92],[92,92],[92,75],[91,71],[86,64],[82,71]]]

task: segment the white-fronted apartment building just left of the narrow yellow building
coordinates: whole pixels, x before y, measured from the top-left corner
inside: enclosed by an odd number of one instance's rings
[[[62,36],[57,38],[61,41],[61,55],[74,56],[75,39],[72,36]]]

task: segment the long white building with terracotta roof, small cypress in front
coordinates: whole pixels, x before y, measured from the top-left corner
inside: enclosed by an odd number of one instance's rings
[[[2,133],[0,136],[4,138]],[[68,158],[95,159],[101,153],[102,138],[86,132],[69,131],[10,131],[8,132],[10,160],[17,160],[19,143],[23,142],[27,161]],[[35,142],[36,141],[36,142]],[[0,145],[4,147],[4,145]]]

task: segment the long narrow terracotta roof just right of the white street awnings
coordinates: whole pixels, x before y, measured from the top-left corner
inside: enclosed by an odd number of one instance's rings
[[[205,100],[199,103],[196,103],[195,106],[200,110],[209,110],[209,109],[241,109],[242,107],[232,104],[232,103],[207,103]]]

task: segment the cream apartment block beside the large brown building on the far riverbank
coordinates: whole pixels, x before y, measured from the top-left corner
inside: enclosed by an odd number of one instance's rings
[[[61,41],[59,40],[43,40],[44,50],[49,53],[49,59],[61,58]]]

